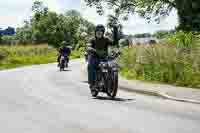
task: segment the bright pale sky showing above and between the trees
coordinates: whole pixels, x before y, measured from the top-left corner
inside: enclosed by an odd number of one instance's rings
[[[20,26],[25,19],[31,15],[31,6],[34,0],[0,0],[0,27]],[[95,24],[105,24],[105,16],[99,16],[95,8],[85,6],[84,0],[43,0],[44,3],[52,11],[58,13],[69,9],[76,9],[81,12],[84,18]],[[170,16],[161,21],[160,24],[148,24],[146,20],[141,19],[137,15],[131,16],[126,22],[123,22],[125,33],[144,33],[154,32],[156,30],[173,29],[177,25],[176,12],[172,12]]]

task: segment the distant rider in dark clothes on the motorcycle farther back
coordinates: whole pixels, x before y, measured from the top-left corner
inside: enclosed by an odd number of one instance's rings
[[[71,48],[68,46],[69,44],[66,41],[63,41],[61,43],[61,47],[59,48],[58,52],[58,58],[57,58],[57,62],[58,62],[58,66],[60,66],[60,58],[63,55],[66,59],[67,62],[69,62],[69,55],[71,54]]]

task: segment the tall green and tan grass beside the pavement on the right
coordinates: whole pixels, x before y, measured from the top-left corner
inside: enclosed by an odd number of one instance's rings
[[[181,32],[161,44],[124,48],[119,64],[129,79],[200,88],[200,37]]]

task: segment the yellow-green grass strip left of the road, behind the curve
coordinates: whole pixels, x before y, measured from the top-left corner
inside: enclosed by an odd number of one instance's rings
[[[55,62],[56,50],[47,44],[0,46],[0,69]]]

